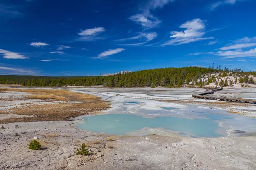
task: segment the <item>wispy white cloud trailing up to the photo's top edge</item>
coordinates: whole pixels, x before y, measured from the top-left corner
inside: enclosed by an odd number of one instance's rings
[[[147,0],[140,6],[140,13],[129,17],[136,24],[141,25],[144,29],[156,28],[161,23],[157,17],[151,14],[151,10],[163,8],[164,5],[175,0]]]

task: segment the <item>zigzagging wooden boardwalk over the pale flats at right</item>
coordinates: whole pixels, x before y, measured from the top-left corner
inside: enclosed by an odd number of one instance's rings
[[[213,91],[220,91],[223,88],[213,88]],[[220,101],[227,101],[227,102],[244,102],[244,103],[253,103],[256,104],[256,99],[235,99],[235,98],[226,98],[226,97],[214,97],[214,96],[207,96],[207,94],[213,94],[211,91],[204,91],[200,93],[192,94],[192,97],[198,99],[207,99],[207,100],[220,100]]]

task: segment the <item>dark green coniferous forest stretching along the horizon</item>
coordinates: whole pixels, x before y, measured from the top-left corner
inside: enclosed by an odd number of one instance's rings
[[[209,76],[205,78],[205,74]],[[40,76],[0,76],[0,84],[19,84],[34,87],[53,87],[53,86],[90,86],[103,85],[107,87],[181,87],[186,85],[209,85],[219,77],[239,76],[242,82],[254,84],[252,77],[255,72],[244,72],[241,69],[228,68],[222,69],[219,65],[215,68],[214,64],[209,68],[203,67],[183,67],[183,68],[156,68],[151,70],[134,71],[126,74],[116,74],[113,76],[95,77],[40,77]],[[211,76],[212,75],[212,76]],[[222,82],[223,81],[223,82]],[[225,85],[224,80],[215,84]]]

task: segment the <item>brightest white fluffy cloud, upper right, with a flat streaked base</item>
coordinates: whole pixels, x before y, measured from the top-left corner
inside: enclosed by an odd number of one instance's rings
[[[171,31],[172,34],[170,38],[172,40],[164,42],[162,45],[180,45],[186,44],[189,42],[202,41],[214,39],[214,37],[203,37],[206,33],[205,23],[203,20],[197,18],[194,20],[189,20],[186,23],[183,23],[179,28],[186,28],[185,31]]]

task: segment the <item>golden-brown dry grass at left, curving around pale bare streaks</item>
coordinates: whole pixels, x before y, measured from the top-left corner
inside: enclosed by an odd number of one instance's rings
[[[0,114],[14,113],[21,115],[32,115],[33,117],[9,118],[0,120],[0,123],[11,122],[36,122],[36,121],[55,121],[66,120],[70,117],[90,114],[97,111],[103,111],[110,108],[110,104],[100,100],[99,97],[76,93],[67,90],[55,89],[0,89],[3,91],[18,91],[32,94],[26,96],[28,99],[40,99],[49,101],[49,104],[29,104],[23,108],[12,108],[9,110],[0,110]],[[52,101],[62,101],[55,104]],[[73,102],[73,103],[72,103]],[[78,103],[79,102],[79,103]]]

